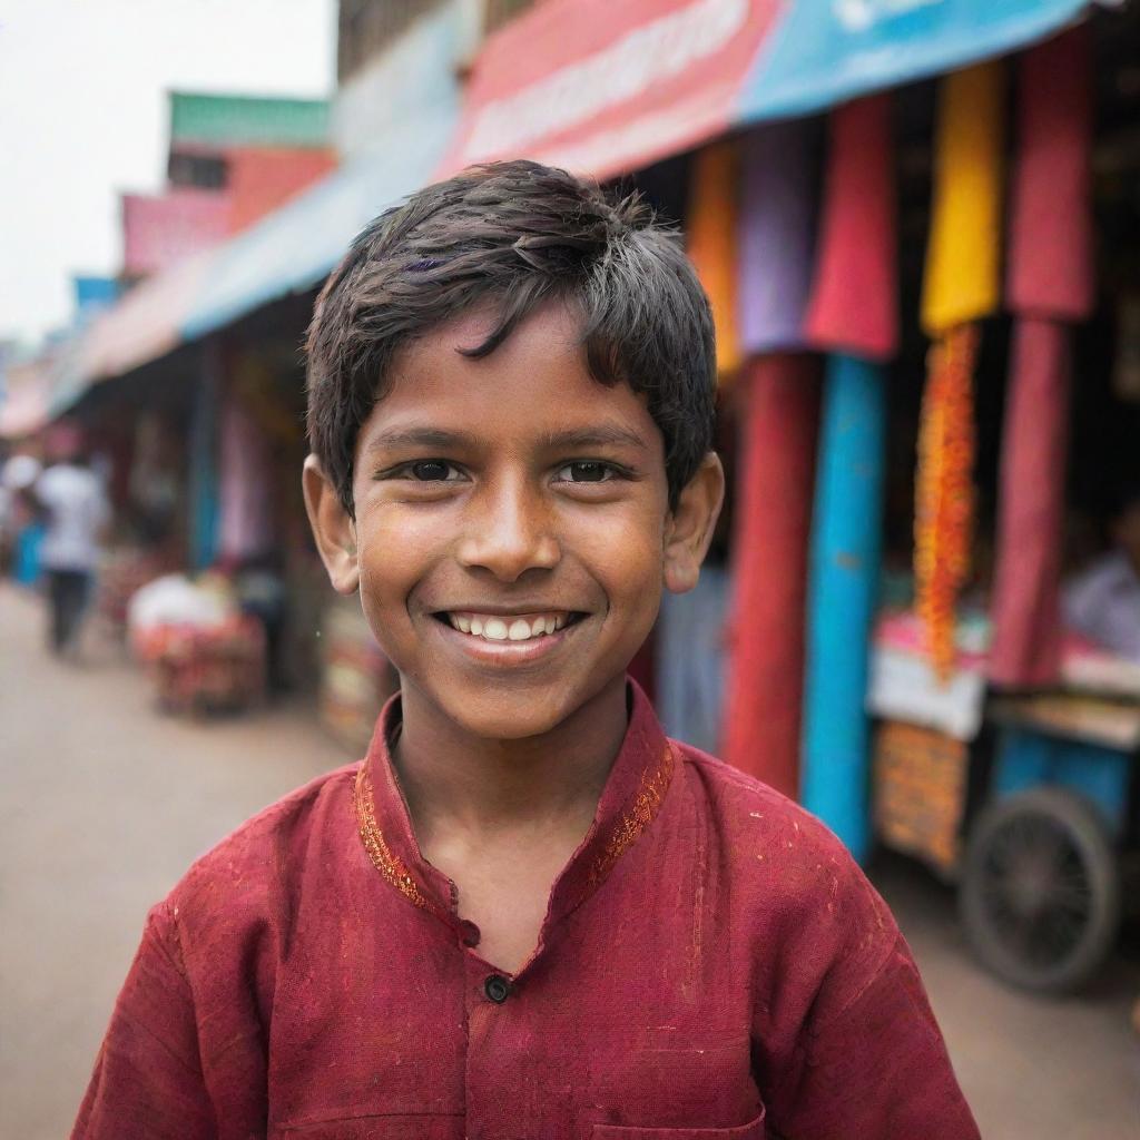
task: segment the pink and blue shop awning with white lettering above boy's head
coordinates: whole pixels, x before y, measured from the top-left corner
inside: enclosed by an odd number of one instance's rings
[[[442,165],[597,178],[1033,42],[1088,0],[546,0],[478,59]]]

